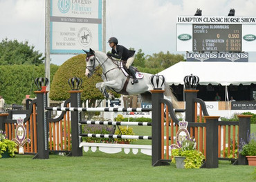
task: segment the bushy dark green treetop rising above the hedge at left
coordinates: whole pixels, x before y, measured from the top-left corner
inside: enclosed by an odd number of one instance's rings
[[[7,38],[0,43],[0,65],[21,65],[43,63],[42,53],[34,50],[35,46],[28,45],[28,41],[19,43]]]

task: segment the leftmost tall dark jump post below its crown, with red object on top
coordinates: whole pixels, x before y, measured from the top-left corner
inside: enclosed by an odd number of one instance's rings
[[[48,128],[47,116],[44,108],[47,106],[46,86],[41,91],[35,91],[37,94],[37,154],[33,159],[49,159],[48,148]]]

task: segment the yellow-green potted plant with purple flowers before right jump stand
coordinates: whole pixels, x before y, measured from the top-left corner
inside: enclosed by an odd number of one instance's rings
[[[183,162],[178,161],[180,157],[183,158]],[[176,168],[200,168],[203,159],[203,153],[196,150],[196,140],[188,136],[178,142],[177,148],[172,149],[172,163],[176,163]]]

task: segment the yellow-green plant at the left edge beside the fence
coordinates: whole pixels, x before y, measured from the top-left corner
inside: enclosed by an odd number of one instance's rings
[[[8,140],[6,134],[0,130],[0,158],[13,157],[17,150],[17,144],[14,141]]]

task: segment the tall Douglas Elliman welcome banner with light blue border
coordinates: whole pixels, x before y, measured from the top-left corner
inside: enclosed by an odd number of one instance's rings
[[[51,54],[102,50],[102,0],[51,0]]]

